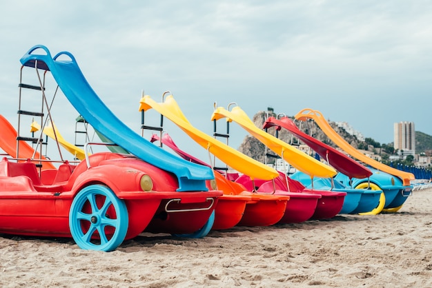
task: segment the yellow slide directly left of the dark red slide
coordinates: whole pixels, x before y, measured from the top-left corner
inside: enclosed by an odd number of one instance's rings
[[[226,118],[227,121],[235,121],[238,123],[244,130],[248,131],[269,149],[281,156],[286,162],[290,163],[301,172],[308,174],[311,178],[331,178],[337,174],[333,167],[317,161],[308,154],[255,126],[251,119],[248,118],[248,115],[239,106],[233,107],[230,111],[226,110],[224,107],[217,107],[211,119],[219,120],[222,118]]]

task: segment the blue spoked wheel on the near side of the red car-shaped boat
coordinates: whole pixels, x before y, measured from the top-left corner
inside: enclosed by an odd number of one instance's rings
[[[126,204],[104,185],[85,187],[72,201],[69,229],[81,249],[115,250],[126,237],[128,223]]]

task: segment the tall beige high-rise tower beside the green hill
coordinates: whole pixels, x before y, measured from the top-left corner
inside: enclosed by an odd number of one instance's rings
[[[403,155],[415,154],[415,127],[413,122],[394,125],[394,147]]]

